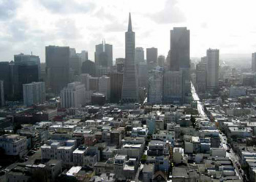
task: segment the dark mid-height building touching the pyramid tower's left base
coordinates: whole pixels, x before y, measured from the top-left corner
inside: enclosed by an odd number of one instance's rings
[[[118,103],[121,100],[123,87],[123,73],[111,72],[110,77],[110,103]]]

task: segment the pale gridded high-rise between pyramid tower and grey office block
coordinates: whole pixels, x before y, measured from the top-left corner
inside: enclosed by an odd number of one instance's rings
[[[148,72],[148,103],[162,103],[162,71]]]

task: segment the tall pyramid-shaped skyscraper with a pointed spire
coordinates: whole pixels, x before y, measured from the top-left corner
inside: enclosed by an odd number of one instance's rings
[[[128,31],[125,33],[125,63],[122,101],[138,101],[138,78],[135,68],[135,32],[132,31],[131,14],[129,14]]]

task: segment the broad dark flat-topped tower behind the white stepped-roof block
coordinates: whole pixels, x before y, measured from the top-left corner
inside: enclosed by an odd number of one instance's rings
[[[46,73],[50,89],[56,95],[69,83],[69,47],[45,47]]]

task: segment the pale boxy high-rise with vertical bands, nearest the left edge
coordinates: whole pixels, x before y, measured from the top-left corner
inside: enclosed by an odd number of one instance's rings
[[[23,102],[26,106],[43,103],[45,101],[45,82],[23,84]]]

